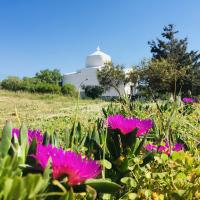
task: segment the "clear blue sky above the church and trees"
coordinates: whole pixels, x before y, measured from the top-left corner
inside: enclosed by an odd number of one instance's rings
[[[0,0],[0,78],[75,71],[98,45],[130,67],[169,23],[200,50],[199,0]]]

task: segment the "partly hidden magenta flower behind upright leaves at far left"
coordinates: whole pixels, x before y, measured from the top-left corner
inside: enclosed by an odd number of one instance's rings
[[[40,130],[31,130],[28,129],[28,143],[31,144],[33,139],[35,138],[37,143],[41,144],[43,142],[43,135]],[[16,136],[19,138],[20,135],[20,130],[18,128],[13,128],[12,129],[12,136]]]

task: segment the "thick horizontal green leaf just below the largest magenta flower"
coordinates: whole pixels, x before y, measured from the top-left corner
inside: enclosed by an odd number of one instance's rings
[[[106,179],[89,179],[85,181],[85,184],[102,193],[114,193],[121,188],[117,183]]]

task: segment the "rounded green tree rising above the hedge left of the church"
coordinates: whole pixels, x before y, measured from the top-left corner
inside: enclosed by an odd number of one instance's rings
[[[37,72],[35,75],[35,79],[39,82],[60,85],[62,81],[62,75],[58,69],[45,69]]]

